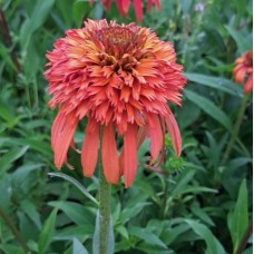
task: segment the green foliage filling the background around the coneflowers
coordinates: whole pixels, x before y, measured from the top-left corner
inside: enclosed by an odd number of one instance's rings
[[[121,18],[115,4],[106,12],[82,0],[1,0],[0,8],[11,37],[0,27],[0,253],[91,253],[95,204],[48,176],[56,172],[56,113],[47,107],[45,53],[86,18],[131,22],[134,10]],[[252,49],[252,19],[250,0],[162,0],[159,13],[145,14],[141,26],[174,43],[188,78],[183,107],[174,108],[183,157],[174,158],[166,137],[167,174],[147,170],[147,141],[134,186],[114,186],[115,253],[236,253],[251,219],[252,96],[231,157],[221,162],[243,99],[233,62]],[[84,178],[78,156],[70,157],[76,169],[62,172],[96,197],[97,176]],[[252,253],[251,240],[244,253]]]

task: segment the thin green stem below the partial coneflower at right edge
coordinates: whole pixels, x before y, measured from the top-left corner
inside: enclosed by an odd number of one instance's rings
[[[235,126],[234,126],[234,128],[232,130],[231,139],[229,139],[229,141],[227,144],[225,154],[223,156],[222,165],[224,165],[227,162],[227,158],[229,157],[231,152],[232,152],[232,149],[234,147],[235,140],[236,140],[236,138],[238,136],[238,131],[240,131],[240,127],[241,127],[241,124],[242,124],[242,120],[243,120],[244,111],[245,111],[246,106],[247,106],[247,100],[248,100],[248,96],[245,95],[243,100],[242,100],[242,105],[241,105],[241,108],[240,108],[240,113],[238,113]]]

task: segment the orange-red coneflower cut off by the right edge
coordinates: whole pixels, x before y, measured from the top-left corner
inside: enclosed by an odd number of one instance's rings
[[[244,94],[253,89],[253,51],[247,51],[235,61],[233,75],[236,82],[244,87]]]

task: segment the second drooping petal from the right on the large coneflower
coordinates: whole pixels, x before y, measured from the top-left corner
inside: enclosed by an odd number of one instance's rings
[[[149,115],[148,119],[148,136],[150,138],[150,165],[157,159],[163,146],[163,131],[162,126],[156,115]]]

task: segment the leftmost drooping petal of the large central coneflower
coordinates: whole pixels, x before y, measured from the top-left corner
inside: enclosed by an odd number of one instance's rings
[[[62,123],[61,123],[62,124]],[[78,119],[74,114],[69,114],[66,117],[65,124],[58,125],[56,129],[60,130],[60,133],[55,134],[53,140],[53,150],[55,150],[55,165],[57,168],[60,168],[66,160],[67,152],[72,140],[75,130],[78,125]],[[53,129],[52,131],[56,131]]]

